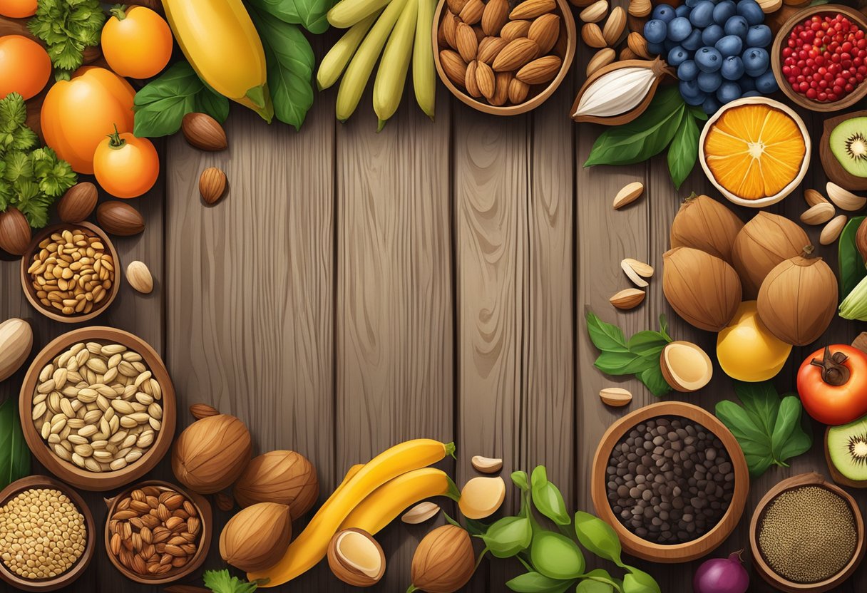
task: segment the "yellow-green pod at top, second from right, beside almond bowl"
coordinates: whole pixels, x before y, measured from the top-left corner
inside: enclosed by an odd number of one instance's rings
[[[379,117],[379,132],[401,104],[403,86],[407,82],[409,60],[413,55],[415,21],[419,16],[419,0],[407,0],[401,17],[394,25],[388,44],[382,52],[380,68],[374,82],[374,111]]]

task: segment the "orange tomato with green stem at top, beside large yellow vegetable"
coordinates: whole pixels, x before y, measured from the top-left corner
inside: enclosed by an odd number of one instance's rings
[[[172,29],[144,6],[111,10],[102,28],[102,55],[114,72],[130,78],[160,74],[172,57]]]

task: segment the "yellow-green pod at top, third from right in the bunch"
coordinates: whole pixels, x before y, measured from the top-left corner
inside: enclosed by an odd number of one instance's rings
[[[358,101],[362,99],[364,88],[368,84],[370,73],[373,71],[376,59],[379,57],[382,46],[385,45],[394,23],[401,16],[403,6],[407,0],[391,0],[388,7],[376,19],[376,23],[368,36],[364,38],[362,45],[355,52],[352,62],[346,68],[346,74],[340,81],[340,89],[337,91],[337,119],[347,121],[358,107]]]

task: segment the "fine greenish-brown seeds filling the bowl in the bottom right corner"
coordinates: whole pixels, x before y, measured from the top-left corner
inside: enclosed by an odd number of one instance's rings
[[[759,527],[759,550],[766,563],[794,583],[818,583],[838,574],[856,545],[850,506],[820,486],[780,494]]]

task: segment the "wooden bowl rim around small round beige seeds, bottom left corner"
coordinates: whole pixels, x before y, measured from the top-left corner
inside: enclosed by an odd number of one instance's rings
[[[6,583],[10,583],[10,585],[12,585],[18,590],[58,590],[62,587],[66,587],[69,583],[75,581],[76,578],[81,577],[81,573],[88,568],[90,560],[94,557],[94,550],[96,548],[96,526],[94,524],[94,516],[90,513],[88,505],[84,503],[84,500],[81,499],[81,496],[78,494],[78,492],[75,492],[75,490],[70,488],[68,485],[62,484],[56,479],[49,478],[49,476],[28,476],[26,478],[22,478],[15,482],[12,482],[10,485],[3,488],[3,491],[0,491],[0,506],[5,505],[9,501],[9,499],[16,496],[18,493],[29,490],[30,488],[53,488],[66,494],[69,500],[71,500],[75,504],[75,506],[78,507],[78,510],[81,512],[81,516],[84,517],[84,523],[88,530],[87,543],[84,545],[84,552],[81,554],[81,557],[79,557],[78,560],[75,562],[75,564],[72,565],[72,568],[64,572],[59,577],[31,581],[26,578],[18,577],[16,574],[12,573],[9,569],[7,569],[6,565],[3,564],[2,561],[0,561],[0,578],[6,581]]]

